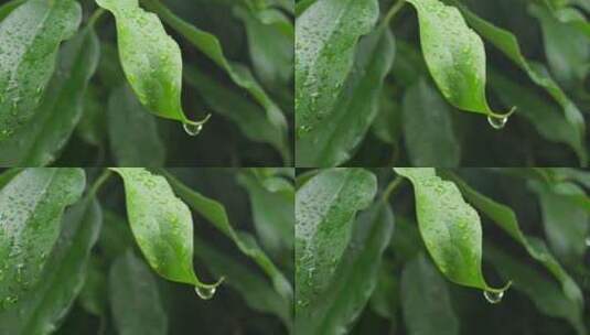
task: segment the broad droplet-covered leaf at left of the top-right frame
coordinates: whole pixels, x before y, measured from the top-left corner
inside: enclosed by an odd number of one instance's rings
[[[355,45],[379,14],[376,0],[322,0],[296,22],[296,125],[303,136],[333,111]]]

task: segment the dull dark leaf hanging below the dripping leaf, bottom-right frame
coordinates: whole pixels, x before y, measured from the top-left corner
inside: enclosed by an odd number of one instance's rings
[[[459,334],[449,287],[423,253],[404,267],[400,292],[409,335]]]

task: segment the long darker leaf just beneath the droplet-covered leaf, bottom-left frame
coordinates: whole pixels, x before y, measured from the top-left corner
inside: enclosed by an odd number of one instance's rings
[[[93,196],[66,212],[60,238],[41,275],[43,280],[17,305],[0,313],[0,334],[50,334],[56,329],[84,284],[101,224],[100,206]]]

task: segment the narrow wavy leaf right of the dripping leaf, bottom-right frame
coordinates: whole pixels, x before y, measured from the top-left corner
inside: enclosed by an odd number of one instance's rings
[[[566,272],[561,264],[551,255],[545,241],[535,237],[526,236],[518,225],[518,218],[514,210],[508,206],[493,201],[492,198],[479,193],[470,187],[465,182],[451,173],[443,173],[444,177],[454,182],[454,184],[461,190],[463,196],[473,205],[478,210],[485,214],[496,225],[506,231],[514,240],[519,242],[538,262],[543,263],[549,272],[561,283],[564,294],[571,301],[579,305],[583,305],[583,296],[578,284]]]

